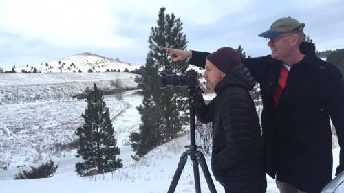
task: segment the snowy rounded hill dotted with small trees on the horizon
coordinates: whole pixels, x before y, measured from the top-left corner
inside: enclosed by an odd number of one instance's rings
[[[105,71],[129,71],[138,69],[140,66],[131,66],[130,63],[125,63],[119,59],[111,59],[104,56],[99,56],[89,52],[68,56],[67,58],[60,58],[56,60],[45,61],[36,65],[26,65],[16,67],[15,71],[32,72],[36,68],[41,73],[56,73],[56,72],[105,72]],[[5,68],[4,71],[10,71],[12,68]]]

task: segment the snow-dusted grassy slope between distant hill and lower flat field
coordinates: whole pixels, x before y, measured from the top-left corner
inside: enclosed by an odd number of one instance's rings
[[[111,82],[120,80],[122,87],[136,87],[133,73],[1,73],[0,104],[69,100],[93,88],[114,89]]]

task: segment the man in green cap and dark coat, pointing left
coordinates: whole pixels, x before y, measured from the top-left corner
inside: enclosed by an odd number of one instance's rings
[[[264,167],[280,192],[320,192],[332,179],[330,117],[341,146],[336,175],[344,171],[344,83],[341,72],[303,41],[304,23],[283,17],[259,34],[271,55],[242,62],[261,86]],[[166,48],[174,61],[204,67],[207,52]]]

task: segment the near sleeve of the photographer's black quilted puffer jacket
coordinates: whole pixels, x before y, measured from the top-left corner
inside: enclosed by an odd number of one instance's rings
[[[217,153],[214,163],[222,170],[232,170],[239,163],[250,159],[255,147],[248,96],[242,94],[226,94],[228,100],[222,105],[224,111],[221,113],[221,122],[226,137],[226,147]],[[253,104],[252,104],[253,105]]]

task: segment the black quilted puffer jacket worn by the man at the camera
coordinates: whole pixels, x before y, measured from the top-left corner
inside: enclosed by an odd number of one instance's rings
[[[266,192],[261,129],[248,92],[254,84],[243,64],[232,67],[215,87],[217,96],[208,105],[201,96],[195,108],[200,122],[213,123],[211,168],[215,179],[234,192]]]

